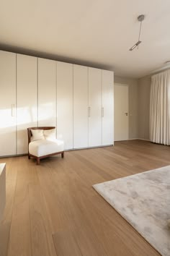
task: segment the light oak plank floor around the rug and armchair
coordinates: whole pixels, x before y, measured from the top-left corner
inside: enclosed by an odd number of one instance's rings
[[[170,165],[170,148],[150,142],[66,152],[42,160],[6,162],[6,210],[1,256],[159,255],[92,184]]]

